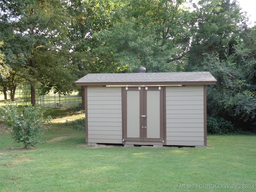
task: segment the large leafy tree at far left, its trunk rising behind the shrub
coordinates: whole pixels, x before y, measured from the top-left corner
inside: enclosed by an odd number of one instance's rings
[[[74,87],[74,83],[70,84],[76,77],[70,74],[65,3],[4,0],[0,6],[4,59],[16,76],[29,82],[33,106],[36,84],[42,84],[45,92],[52,87],[59,93],[68,92]]]

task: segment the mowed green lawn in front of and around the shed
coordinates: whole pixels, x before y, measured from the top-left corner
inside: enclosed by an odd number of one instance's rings
[[[206,148],[86,146],[67,124],[84,114],[50,110],[36,148],[13,143],[0,124],[0,192],[256,190],[255,135],[208,136]]]

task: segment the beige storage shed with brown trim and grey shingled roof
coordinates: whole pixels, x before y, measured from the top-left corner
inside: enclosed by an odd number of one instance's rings
[[[88,74],[86,143],[206,146],[210,72]]]

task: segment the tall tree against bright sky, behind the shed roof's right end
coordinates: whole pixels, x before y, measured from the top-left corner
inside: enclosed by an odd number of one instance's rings
[[[194,4],[191,48],[186,70],[196,70],[205,54],[218,54],[220,60],[234,53],[240,34],[248,27],[236,0],[200,0]]]

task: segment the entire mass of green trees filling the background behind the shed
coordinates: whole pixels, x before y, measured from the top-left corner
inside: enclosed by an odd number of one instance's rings
[[[2,0],[0,90],[14,100],[28,84],[34,105],[36,88],[68,94],[87,73],[208,70],[218,80],[210,117],[255,131],[256,28],[247,21],[236,0]]]

